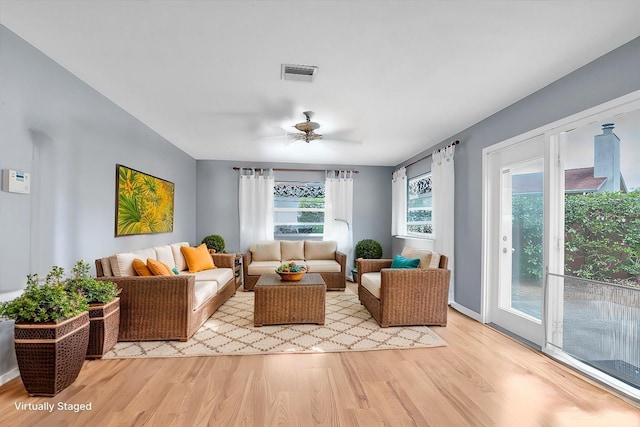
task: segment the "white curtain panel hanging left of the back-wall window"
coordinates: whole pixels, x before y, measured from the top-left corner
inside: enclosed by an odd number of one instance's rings
[[[240,250],[273,240],[273,169],[240,170]]]

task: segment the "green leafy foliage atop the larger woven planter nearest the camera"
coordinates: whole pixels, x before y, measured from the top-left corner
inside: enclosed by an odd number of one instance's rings
[[[37,274],[27,276],[27,287],[18,298],[0,304],[0,315],[16,322],[58,322],[89,309],[84,295],[68,292],[62,279],[64,269],[52,267],[43,284]]]

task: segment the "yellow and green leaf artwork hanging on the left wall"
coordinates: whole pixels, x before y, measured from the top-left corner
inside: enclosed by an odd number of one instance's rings
[[[174,184],[116,165],[116,237],[173,231]]]

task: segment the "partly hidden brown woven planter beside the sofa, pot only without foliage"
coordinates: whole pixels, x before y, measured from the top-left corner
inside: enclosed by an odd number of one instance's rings
[[[90,304],[89,322],[87,359],[100,359],[118,341],[120,298],[107,304]]]

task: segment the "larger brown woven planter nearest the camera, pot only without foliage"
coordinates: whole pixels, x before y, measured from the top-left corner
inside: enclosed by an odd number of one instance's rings
[[[20,377],[32,396],[55,396],[78,377],[89,343],[89,312],[60,323],[16,323]]]

